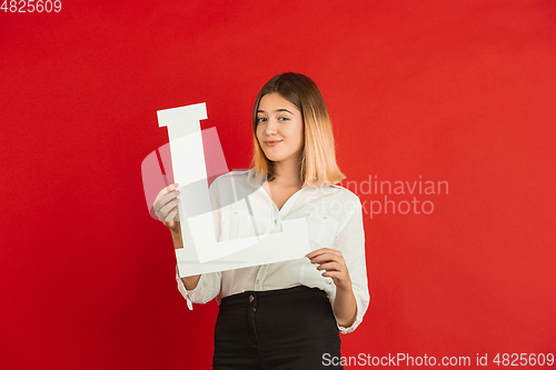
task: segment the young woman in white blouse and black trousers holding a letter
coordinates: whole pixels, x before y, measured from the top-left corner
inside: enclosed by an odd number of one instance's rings
[[[214,369],[335,368],[339,332],[361,323],[369,292],[361,204],[335,186],[345,176],[315,82],[299,73],[268,81],[255,102],[252,132],[252,168],[210,186],[220,217],[217,240],[279,232],[282,220],[306,218],[312,251],[298,260],[177,278],[178,288],[190,309],[214,298],[220,304]],[[162,189],[153,207],[181,248],[177,187]],[[238,192],[249,198],[249,209],[234,202]]]

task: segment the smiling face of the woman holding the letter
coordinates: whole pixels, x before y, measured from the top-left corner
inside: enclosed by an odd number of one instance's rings
[[[297,161],[305,144],[301,112],[278,92],[264,96],[257,110],[257,139],[269,160]]]

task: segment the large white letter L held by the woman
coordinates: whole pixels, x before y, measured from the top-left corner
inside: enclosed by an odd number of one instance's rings
[[[179,197],[183,248],[176,250],[176,259],[181,278],[299,259],[310,251],[305,219],[282,221],[282,232],[217,242],[212,214],[201,211],[211,209],[200,127],[207,119],[206,104],[157,113],[159,127],[168,128],[173,180],[180,189],[200,183]]]

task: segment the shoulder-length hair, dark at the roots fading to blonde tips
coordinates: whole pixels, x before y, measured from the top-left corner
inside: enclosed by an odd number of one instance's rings
[[[325,99],[317,84],[300,73],[280,73],[260,89],[252,110],[252,138],[255,153],[251,168],[261,171],[269,181],[274,180],[274,162],[262,151],[257,140],[257,111],[260,99],[278,92],[284,99],[296,106],[304,119],[305,144],[300,158],[300,179],[304,187],[327,187],[346,178],[336,163],[334,132],[326,110]]]

